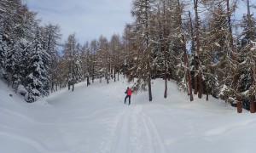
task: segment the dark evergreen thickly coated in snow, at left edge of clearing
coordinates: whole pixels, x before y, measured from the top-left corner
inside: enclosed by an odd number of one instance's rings
[[[43,48],[42,38],[38,30],[35,40],[32,42],[30,65],[26,68],[29,71],[26,76],[26,88],[28,91],[26,101],[29,103],[49,94],[48,66],[50,56]]]

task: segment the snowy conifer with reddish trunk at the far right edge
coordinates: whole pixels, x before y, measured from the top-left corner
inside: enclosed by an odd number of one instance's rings
[[[240,77],[238,79],[241,91],[242,105],[252,113],[255,112],[255,62],[256,53],[256,19],[250,13],[250,4],[247,0],[247,14],[244,14],[241,21],[241,41],[240,41]],[[249,98],[250,97],[250,98]]]

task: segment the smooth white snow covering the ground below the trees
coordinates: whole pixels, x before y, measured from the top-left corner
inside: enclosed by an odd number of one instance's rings
[[[254,152],[256,116],[217,99],[197,99],[155,80],[124,105],[127,83],[76,85],[34,104],[0,81],[2,153],[246,153]],[[13,94],[10,97],[9,94]]]

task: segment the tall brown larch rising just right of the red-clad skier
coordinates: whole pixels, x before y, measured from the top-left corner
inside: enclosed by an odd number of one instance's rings
[[[137,40],[137,57],[135,63],[130,69],[128,75],[129,80],[137,77],[137,83],[134,90],[147,89],[148,86],[148,99],[152,101],[151,79],[152,79],[152,60],[153,60],[153,37],[154,31],[153,21],[154,13],[156,11],[155,1],[153,0],[134,0],[132,2],[131,14],[135,18],[134,28],[132,32],[136,35],[133,39]]]

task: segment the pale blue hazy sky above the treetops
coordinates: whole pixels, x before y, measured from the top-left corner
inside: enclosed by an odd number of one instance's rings
[[[131,22],[131,0],[26,0],[43,24],[61,26],[62,40],[76,33],[79,42],[122,34]]]

